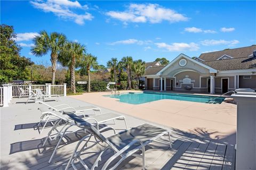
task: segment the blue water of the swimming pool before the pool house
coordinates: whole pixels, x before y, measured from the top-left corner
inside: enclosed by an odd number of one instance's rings
[[[183,100],[183,101],[193,101],[199,103],[212,103],[221,104],[225,97],[219,97],[214,99],[214,96],[204,96],[204,95],[187,95],[187,94],[172,94],[172,93],[160,93],[160,92],[138,92],[138,93],[127,93],[121,94],[120,96],[106,95],[107,97],[117,98],[120,102],[129,104],[143,104],[150,101],[171,99],[171,100]],[[214,100],[213,100],[214,99]]]

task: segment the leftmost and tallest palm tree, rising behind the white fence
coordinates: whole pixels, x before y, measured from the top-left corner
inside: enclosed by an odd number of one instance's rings
[[[55,71],[58,60],[58,54],[66,42],[66,36],[63,33],[52,32],[50,35],[46,31],[40,31],[39,35],[33,39],[35,46],[31,48],[31,53],[38,57],[51,52],[52,62],[52,84],[55,82]]]

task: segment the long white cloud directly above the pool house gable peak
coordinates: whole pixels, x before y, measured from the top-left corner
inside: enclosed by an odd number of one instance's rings
[[[171,45],[166,43],[155,43],[158,48],[165,48],[170,52],[183,52],[183,51],[196,51],[199,49],[196,43],[172,43]]]

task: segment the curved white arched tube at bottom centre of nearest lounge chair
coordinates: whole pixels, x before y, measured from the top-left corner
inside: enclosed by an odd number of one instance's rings
[[[138,147],[135,148],[135,149],[143,148],[143,150],[145,150],[145,148],[144,148],[145,146],[143,146],[143,143],[142,143],[140,140],[138,140],[138,139],[134,139],[132,142],[130,142],[128,145],[126,145],[123,149],[121,149],[121,150],[119,150],[118,152],[116,152],[115,155],[111,156],[111,157],[107,160],[107,162],[103,165],[102,169],[107,169],[107,167],[109,166],[109,164],[110,164],[111,162],[113,162],[114,159],[116,159],[118,156],[122,155],[127,149],[131,148],[135,143],[140,143],[140,146],[138,146]],[[131,155],[132,155],[132,152],[133,152],[133,151],[130,151],[130,153],[128,153],[127,156],[123,157],[122,159],[125,159],[125,158],[131,156]],[[110,168],[110,169],[112,169],[112,168]]]

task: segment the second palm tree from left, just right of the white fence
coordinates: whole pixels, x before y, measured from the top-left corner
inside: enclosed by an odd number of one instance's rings
[[[77,42],[66,43],[60,52],[59,61],[63,66],[68,66],[69,68],[71,91],[74,94],[76,93],[75,68],[78,66],[85,52],[85,46]]]

